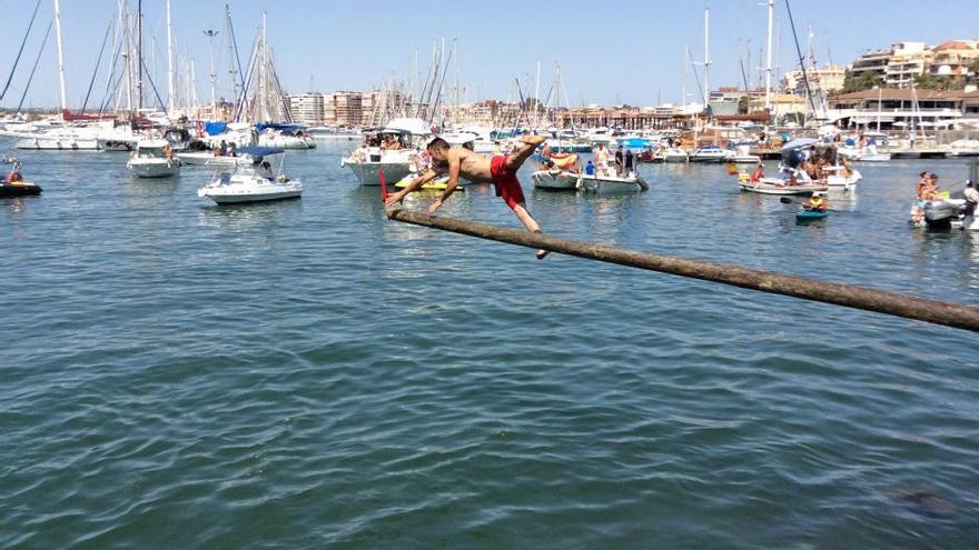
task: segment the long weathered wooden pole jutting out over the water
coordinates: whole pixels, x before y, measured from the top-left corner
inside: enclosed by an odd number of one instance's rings
[[[839,282],[819,281],[739,266],[625,250],[593,242],[506,229],[488,223],[477,223],[454,218],[437,218],[407,210],[389,211],[388,218],[394,221],[452,231],[492,241],[507,242],[532,249],[545,249],[590,260],[720,282],[749,290],[791,296],[803,300],[876,311],[878,313],[979,332],[979,308],[969,306],[927,300],[897,292],[886,292]]]

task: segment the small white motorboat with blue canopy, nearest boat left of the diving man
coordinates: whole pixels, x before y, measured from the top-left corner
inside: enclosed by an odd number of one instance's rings
[[[218,204],[296,199],[303,196],[303,182],[290,180],[284,171],[285,149],[250,148],[251,162],[220,167],[211,182],[197,190]],[[277,166],[273,166],[273,163]]]

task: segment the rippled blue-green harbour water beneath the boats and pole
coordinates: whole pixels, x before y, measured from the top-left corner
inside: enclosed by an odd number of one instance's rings
[[[301,201],[22,153],[0,199],[0,548],[972,548],[979,338]],[[722,167],[531,190],[547,232],[979,306],[979,236],[861,167],[797,226]],[[425,198],[408,207],[423,209]],[[444,216],[515,226],[487,188]]]

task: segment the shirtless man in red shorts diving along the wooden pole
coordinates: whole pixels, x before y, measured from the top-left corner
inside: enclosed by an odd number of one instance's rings
[[[385,204],[387,208],[394,207],[394,204],[404,200],[408,193],[421,189],[426,181],[434,179],[436,172],[447,171],[448,183],[445,187],[445,192],[428,207],[429,214],[434,214],[452,197],[452,193],[458,187],[458,179],[462,177],[473,183],[493,183],[496,188],[496,196],[506,202],[506,206],[513,210],[527,231],[540,233],[541,226],[527,211],[526,199],[524,199],[524,191],[521,188],[520,180],[516,178],[516,171],[534,154],[537,146],[543,143],[546,137],[544,136],[524,136],[520,139],[523,144],[517,147],[511,154],[488,159],[468,149],[449,147],[448,142],[444,139],[435,138],[426,148],[428,153],[432,154],[433,169],[415,178],[407,187],[388,197]],[[546,250],[537,250],[538,260],[543,260],[546,256]]]

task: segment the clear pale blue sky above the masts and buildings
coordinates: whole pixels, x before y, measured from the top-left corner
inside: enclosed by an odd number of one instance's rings
[[[129,0],[132,6],[136,0]],[[146,64],[166,100],[165,0],[144,0]],[[750,83],[760,80],[765,42],[765,7],[761,0],[711,2],[561,2],[462,1],[432,2],[373,0],[328,2],[314,0],[230,0],[230,10],[243,63],[267,12],[271,44],[280,81],[288,92],[369,90],[399,79],[407,83],[413,59],[422,80],[433,46],[457,43],[455,63],[462,99],[514,99],[515,79],[524,97],[534,94],[541,63],[541,98],[553,89],[555,67],[561,68],[562,104],[652,106],[700,97],[702,67],[685,61],[689,47],[694,61],[704,57],[704,9],[710,9],[710,87],[740,86],[742,66]],[[3,0],[7,47],[0,53],[0,78],[6,83],[27,29],[36,0]],[[16,107],[38,59],[53,1],[41,0],[10,90],[0,107]],[[69,107],[86,96],[109,22],[118,0],[61,0],[65,68]],[[848,63],[868,49],[899,41],[936,44],[955,38],[979,38],[979,1],[976,0],[792,0],[800,46],[812,50],[817,62]],[[230,96],[225,2],[172,0],[178,52],[195,58],[198,97],[207,100],[209,48],[204,30],[217,29],[215,59],[218,96]],[[785,0],[775,1],[778,28],[773,66],[779,73],[798,64]],[[154,49],[154,38],[156,48]],[[111,39],[110,39],[111,41]],[[108,48],[107,48],[108,50]],[[155,54],[154,54],[155,52]],[[749,53],[750,52],[750,53]],[[750,56],[750,58],[749,58]],[[89,104],[105,96],[106,53]],[[53,107],[58,100],[55,32],[39,58],[26,104]],[[684,71],[684,68],[688,70]],[[754,70],[752,70],[752,68]],[[684,73],[688,73],[684,76]],[[552,94],[551,103],[555,98]]]

